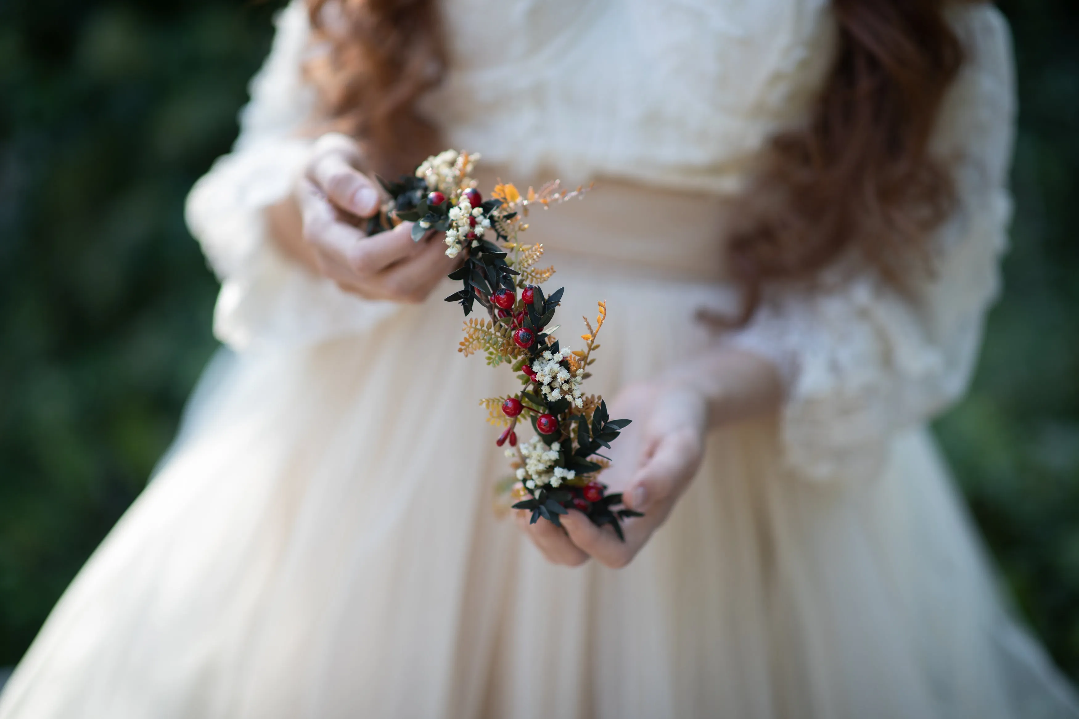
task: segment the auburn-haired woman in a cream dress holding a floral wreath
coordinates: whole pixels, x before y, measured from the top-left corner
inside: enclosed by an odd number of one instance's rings
[[[926,420],[997,292],[1014,117],[988,4],[293,0],[194,188],[221,278],[155,479],[2,719],[1073,717]],[[373,174],[519,185],[634,419],[626,542],[491,511],[453,260]]]

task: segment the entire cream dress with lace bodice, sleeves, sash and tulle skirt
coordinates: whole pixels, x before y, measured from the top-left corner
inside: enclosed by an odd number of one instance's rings
[[[447,0],[447,143],[504,178],[596,179],[537,217],[563,322],[604,299],[605,395],[729,342],[781,416],[709,439],[626,569],[548,565],[491,511],[505,459],[455,352],[459,308],[367,302],[289,262],[262,209],[308,141],[304,10],[281,16],[242,133],[191,194],[218,336],[176,446],[53,611],[0,719],[1077,716],[1002,609],[924,425],[965,389],[1005,248],[1007,28],[956,8],[968,64],[935,151],[960,203],[900,298],[860,273],[730,307],[722,199],[806,116],[823,0]],[[469,409],[470,407],[470,409]],[[452,487],[452,492],[449,488]]]

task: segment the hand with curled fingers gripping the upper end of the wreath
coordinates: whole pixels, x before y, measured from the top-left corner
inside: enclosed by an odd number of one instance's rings
[[[295,191],[303,246],[296,249],[347,292],[370,300],[422,302],[462,258],[446,257],[434,233],[413,241],[411,222],[370,237],[357,227],[382,202],[378,184],[360,166],[359,147],[351,137],[331,133],[315,142]]]

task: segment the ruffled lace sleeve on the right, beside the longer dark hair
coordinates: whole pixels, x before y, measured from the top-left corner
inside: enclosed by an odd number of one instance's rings
[[[830,290],[777,293],[728,338],[780,368],[784,458],[809,479],[872,475],[891,434],[955,401],[997,294],[1011,215],[1010,37],[992,6],[957,10],[954,20],[967,64],[933,149],[955,167],[959,204],[933,238],[935,273],[902,296],[865,272]]]

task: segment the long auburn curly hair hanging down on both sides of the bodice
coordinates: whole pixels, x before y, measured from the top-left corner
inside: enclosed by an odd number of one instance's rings
[[[848,251],[902,287],[955,203],[930,138],[964,58],[945,0],[833,0],[834,67],[807,122],[774,137],[728,230],[739,322],[770,282],[812,279]],[[416,100],[438,85],[446,45],[435,0],[308,0],[328,51],[309,77],[336,128],[372,167],[411,168],[439,149]]]

